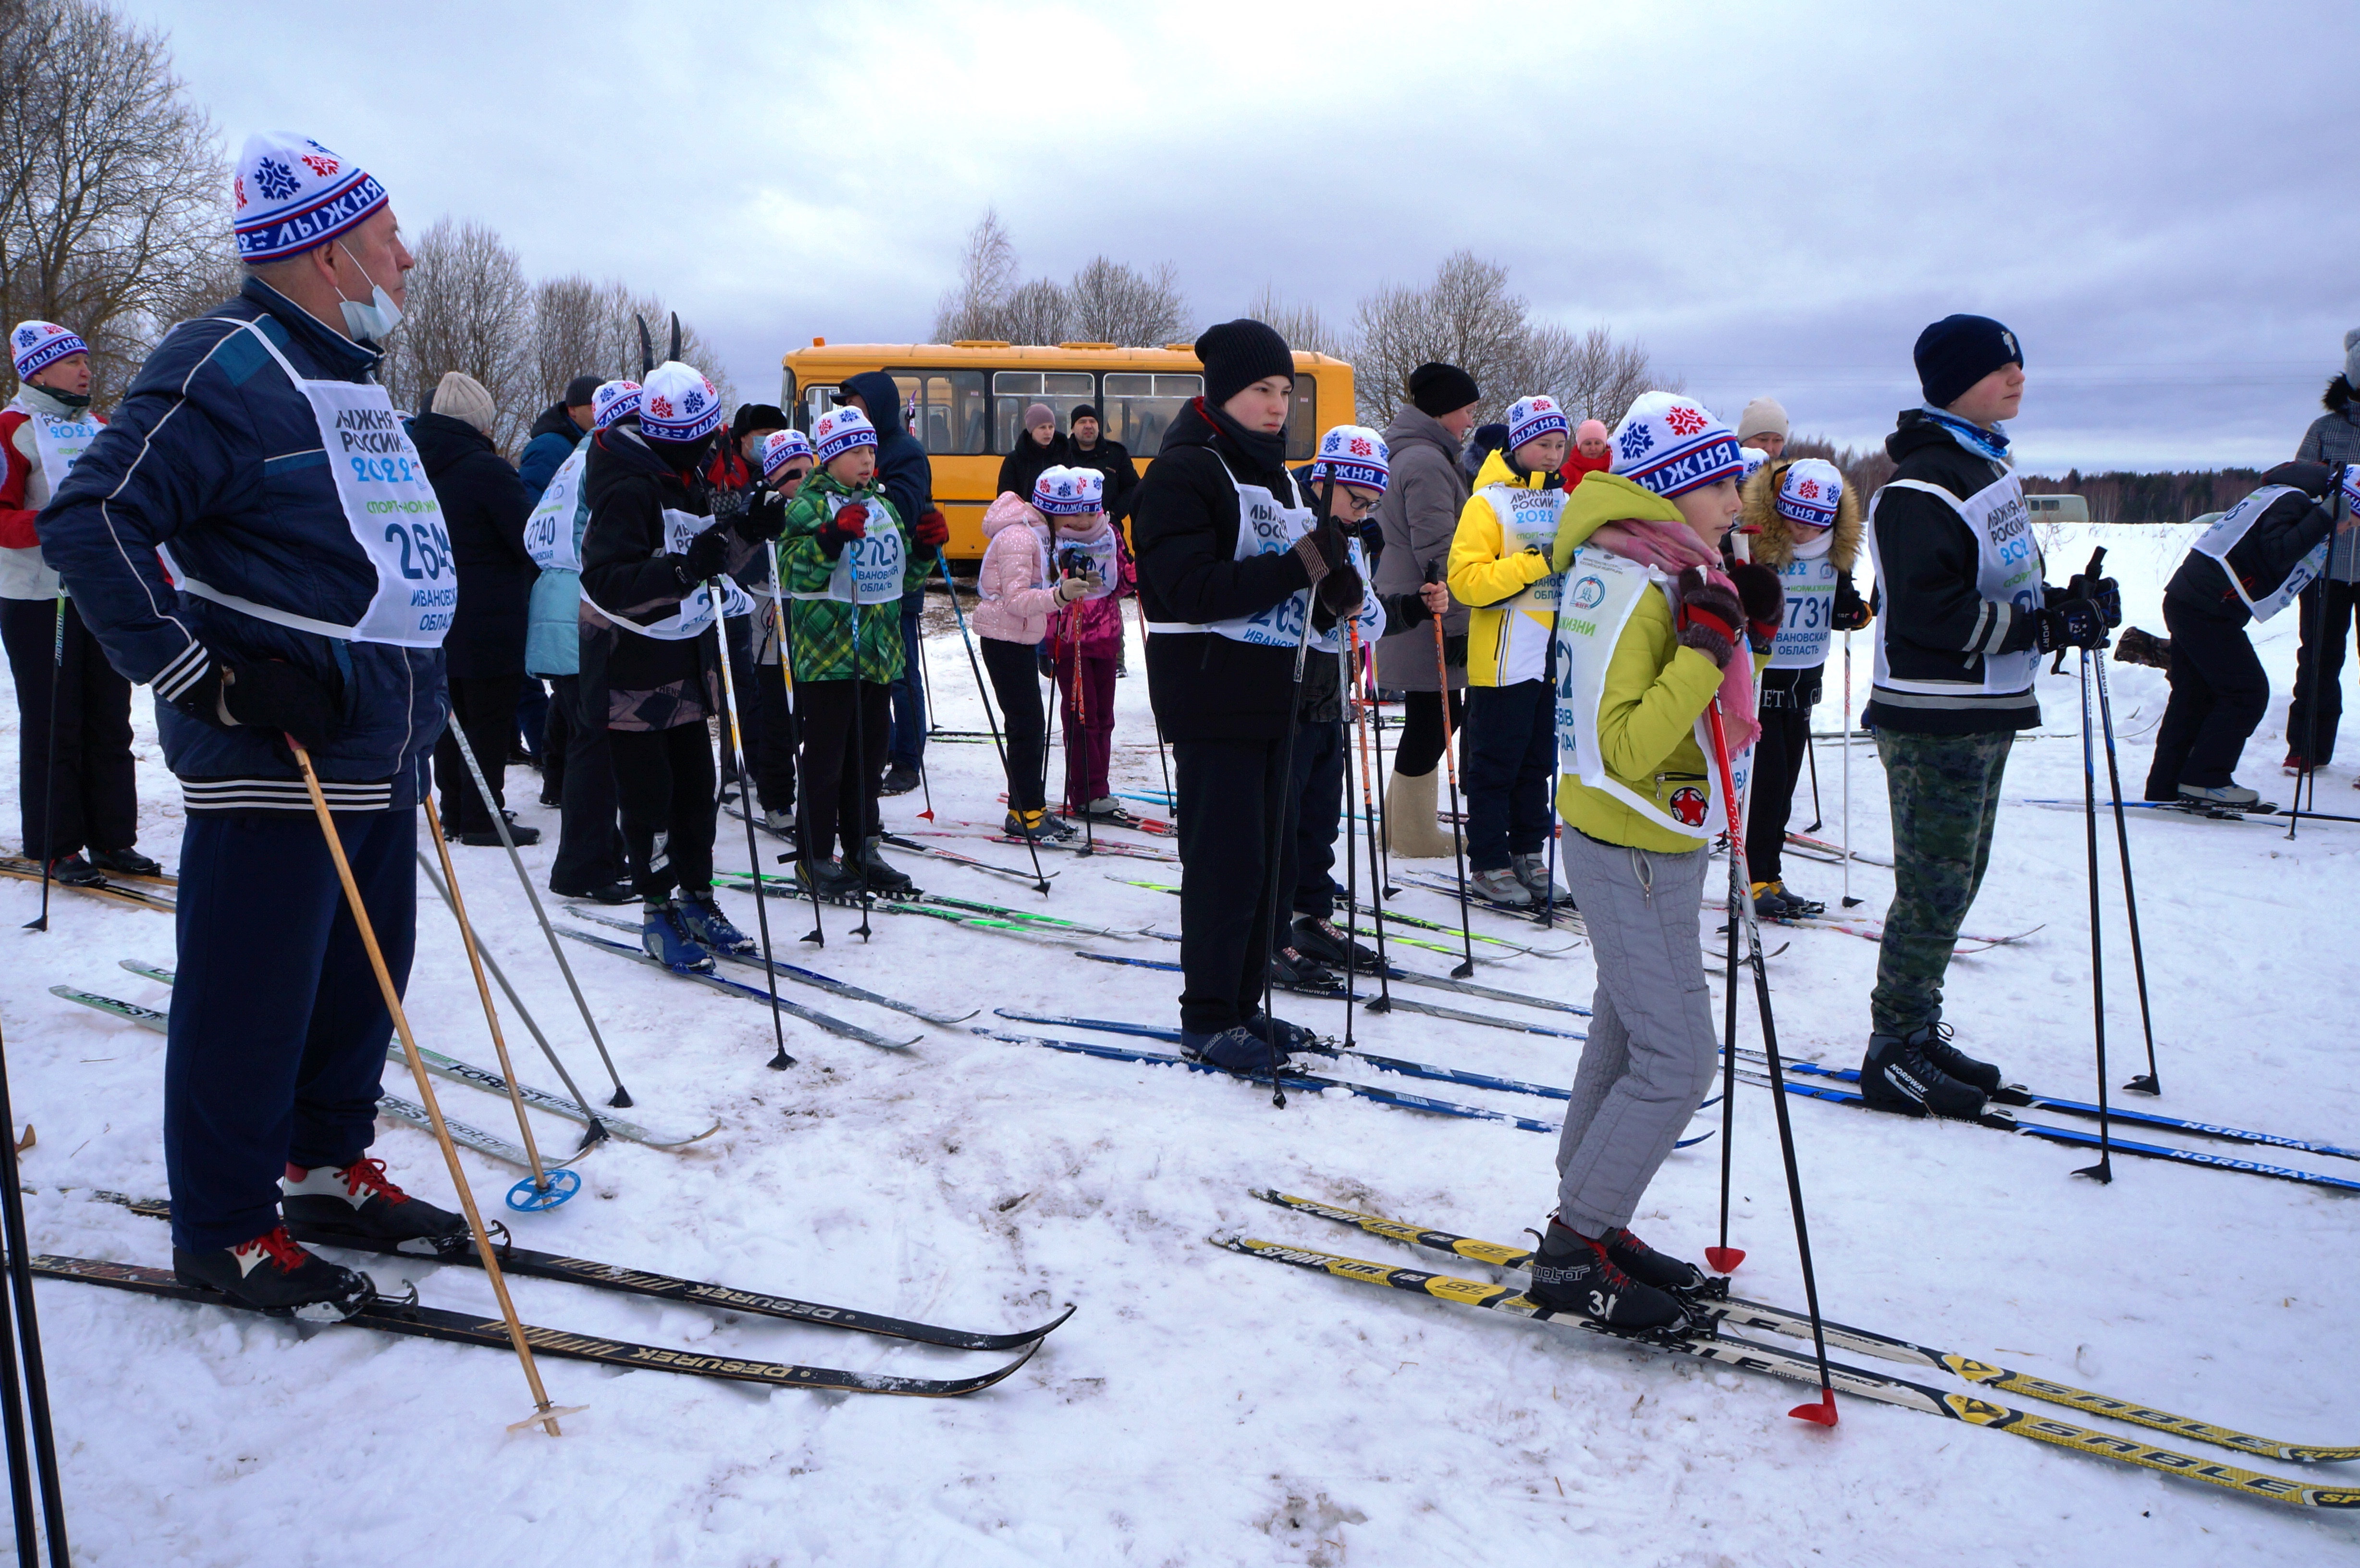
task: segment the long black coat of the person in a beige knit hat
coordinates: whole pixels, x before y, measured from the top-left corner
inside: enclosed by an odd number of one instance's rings
[[[491,437],[448,413],[411,420],[411,442],[451,531],[458,609],[444,635],[453,680],[524,673],[524,602],[540,569],[524,548],[533,496]]]

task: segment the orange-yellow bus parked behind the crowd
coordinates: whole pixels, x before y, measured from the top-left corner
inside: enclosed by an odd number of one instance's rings
[[[1024,437],[1027,404],[1048,404],[1057,430],[1076,404],[1095,404],[1104,439],[1121,442],[1145,475],[1163,430],[1204,392],[1204,366],[1187,342],[1119,349],[1112,342],[1017,347],[1008,342],[828,342],[784,359],[779,406],[798,430],[835,406],[835,387],[861,371],[890,371],[902,413],[935,465],[935,505],[951,522],[951,560],[984,555],[984,508],[1001,458]],[[1352,420],[1352,366],[1296,354],[1296,406],[1286,458],[1307,460],[1319,432]]]

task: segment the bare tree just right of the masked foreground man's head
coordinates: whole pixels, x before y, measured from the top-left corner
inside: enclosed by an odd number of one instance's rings
[[[524,264],[491,224],[439,220],[411,246],[401,331],[387,345],[385,380],[394,401],[415,409],[448,371],[484,383],[498,423],[491,439],[512,451],[531,425],[531,359],[526,352],[533,293]]]

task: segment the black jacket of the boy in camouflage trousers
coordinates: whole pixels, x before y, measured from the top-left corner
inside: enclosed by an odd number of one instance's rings
[[[2004,463],[1959,444],[1933,416],[1907,409],[1886,437],[1893,479],[1919,479],[1966,501],[2008,475]],[[1869,505],[1876,531],[1876,614],[1895,680],[1954,685],[1956,694],[1874,687],[1862,718],[1912,734],[1997,734],[2041,723],[2034,687],[1982,694],[1982,656],[2039,642],[2032,616],[1982,597],[1975,534],[1940,496],[1883,489]]]

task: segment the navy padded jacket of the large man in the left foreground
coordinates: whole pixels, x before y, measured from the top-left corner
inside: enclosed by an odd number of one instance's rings
[[[312,404],[255,342],[255,324],[314,380],[366,383],[380,354],[260,279],[149,354],[113,423],[40,515],[40,548],[109,664],[153,685],[165,763],[191,812],[309,812],[276,734],[170,706],[215,661],[281,659],[342,708],[312,753],[335,810],[408,810],[446,716],[439,647],[349,642],[179,593],[156,557],[219,593],[335,626],[368,612],[378,574],[352,534]]]

